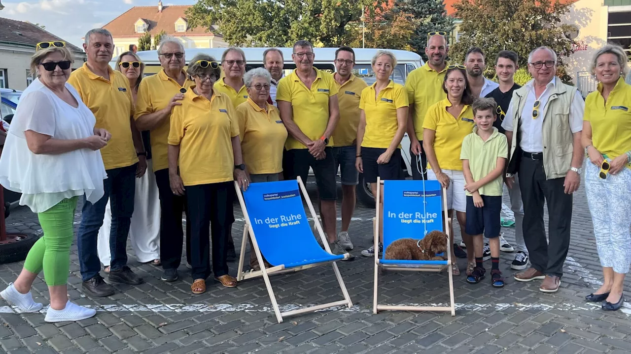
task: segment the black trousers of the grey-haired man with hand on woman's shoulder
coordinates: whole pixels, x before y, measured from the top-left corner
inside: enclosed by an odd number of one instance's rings
[[[160,262],[163,269],[177,269],[182,261],[182,212],[186,212],[186,260],[191,263],[191,222],[186,197],[174,195],[168,183],[168,168],[155,172],[160,195]]]

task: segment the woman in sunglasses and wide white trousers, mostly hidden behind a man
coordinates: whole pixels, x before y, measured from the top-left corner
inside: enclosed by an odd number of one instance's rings
[[[131,97],[134,103],[138,96],[138,88],[143,79],[144,63],[134,52],[124,52],[116,60],[115,69],[122,72],[129,80]],[[148,169],[140,178],[136,178],[136,192],[134,193],[134,214],[131,216],[129,227],[129,241],[140,263],[160,265],[160,201],[158,200],[158,186],[151,169],[151,146],[149,132],[144,131],[143,144],[146,152]],[[110,201],[105,206],[103,226],[98,230],[98,258],[105,265],[105,272],[109,273],[110,261],[110,226],[112,211]]]

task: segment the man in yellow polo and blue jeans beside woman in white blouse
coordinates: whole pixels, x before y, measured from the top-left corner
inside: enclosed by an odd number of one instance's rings
[[[143,282],[127,266],[126,245],[134,212],[134,178],[144,174],[146,152],[132,118],[134,106],[129,81],[109,66],[114,52],[112,35],[101,28],[90,30],[85,35],[83,49],[88,54],[88,62],[70,75],[68,83],[74,86],[83,103],[94,113],[96,127],[111,132],[112,140],[101,149],[107,172],[103,181],[105,194],[94,204],[84,197],[77,240],[83,290],[90,295],[104,297],[113,295],[114,287],[105,283],[98,274],[101,263],[97,255],[97,237],[109,198],[112,205],[109,280],[131,285]]]

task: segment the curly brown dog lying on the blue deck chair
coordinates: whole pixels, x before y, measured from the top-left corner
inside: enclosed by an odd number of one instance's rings
[[[444,261],[437,253],[447,252],[447,234],[432,231],[423,239],[398,239],[386,248],[386,260]]]

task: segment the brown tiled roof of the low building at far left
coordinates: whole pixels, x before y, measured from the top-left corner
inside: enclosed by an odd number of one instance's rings
[[[57,37],[56,35],[44,30],[30,22],[9,20],[0,17],[0,43],[12,43],[17,45],[26,45],[33,47],[39,42],[61,40],[66,42],[68,49],[73,52],[83,53],[83,49],[76,47],[70,42]]]

